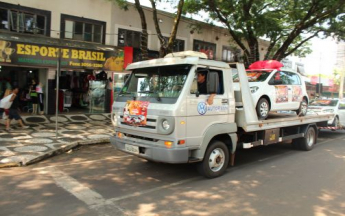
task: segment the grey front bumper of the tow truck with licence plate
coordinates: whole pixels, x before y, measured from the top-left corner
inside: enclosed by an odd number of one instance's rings
[[[140,142],[136,142],[134,144],[117,137],[111,137],[110,143],[122,152],[151,161],[177,164],[188,163],[189,159],[188,148],[166,148],[157,146],[152,147]]]

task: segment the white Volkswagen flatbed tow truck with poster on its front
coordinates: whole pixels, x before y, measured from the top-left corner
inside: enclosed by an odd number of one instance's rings
[[[258,120],[244,65],[207,60],[202,53],[169,54],[130,64],[127,70],[131,76],[112,107],[111,144],[150,161],[198,163],[199,172],[208,178],[234,165],[238,147],[292,140],[293,147],[311,150],[317,128],[332,117],[270,114]],[[240,82],[236,91],[234,71]],[[200,72],[207,74],[207,94],[197,88]]]

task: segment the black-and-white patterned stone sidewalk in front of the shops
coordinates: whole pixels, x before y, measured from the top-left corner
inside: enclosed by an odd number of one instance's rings
[[[5,130],[0,120],[0,168],[23,166],[68,151],[79,145],[107,143],[114,130],[110,114],[59,115],[58,137],[55,116],[22,116],[22,129],[15,121]]]

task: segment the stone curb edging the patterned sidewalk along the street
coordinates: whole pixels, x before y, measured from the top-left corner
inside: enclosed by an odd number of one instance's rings
[[[79,146],[87,146],[87,145],[96,145],[96,144],[103,144],[103,143],[109,143],[109,138],[101,138],[101,139],[93,139],[93,140],[84,140],[84,141],[76,141],[72,143],[66,143],[66,145],[61,146],[58,149],[54,149],[48,152],[45,152],[43,155],[37,156],[34,159],[28,160],[26,162],[19,162],[19,163],[0,163],[0,169],[1,168],[9,168],[9,167],[21,167],[21,166],[27,166],[34,163],[37,163],[39,161],[42,161],[44,159],[53,157],[55,155],[60,155],[62,153],[65,153],[71,149],[77,148]]]

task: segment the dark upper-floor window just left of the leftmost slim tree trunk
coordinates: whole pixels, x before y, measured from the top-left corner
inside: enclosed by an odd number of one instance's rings
[[[117,45],[119,47],[129,46],[140,48],[141,32],[127,29],[119,29]]]

